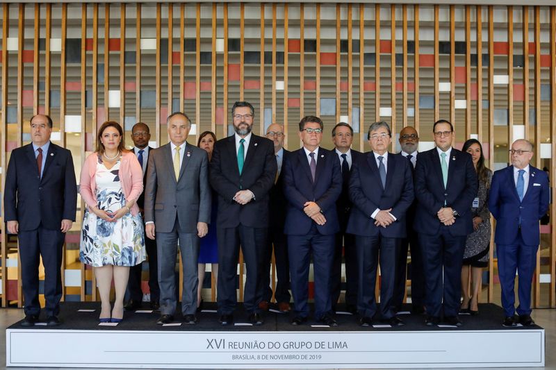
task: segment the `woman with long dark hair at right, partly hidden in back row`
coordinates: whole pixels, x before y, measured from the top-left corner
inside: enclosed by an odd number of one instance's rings
[[[482,145],[478,140],[469,139],[462,151],[471,154],[473,166],[479,178],[479,190],[471,206],[473,233],[468,235],[461,267],[461,312],[479,313],[479,295],[482,285],[482,269],[489,264],[491,241],[491,212],[489,211],[489,189],[492,171],[484,165]],[[471,288],[471,289],[470,289]]]

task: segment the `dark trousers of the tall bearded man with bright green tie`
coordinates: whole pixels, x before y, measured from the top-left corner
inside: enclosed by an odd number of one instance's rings
[[[259,312],[262,299],[260,280],[262,250],[267,239],[267,228],[252,228],[240,224],[235,228],[217,228],[218,238],[218,313],[232,314],[236,308],[236,276],[238,274],[239,248],[243,251],[246,279],[243,305],[247,312]]]

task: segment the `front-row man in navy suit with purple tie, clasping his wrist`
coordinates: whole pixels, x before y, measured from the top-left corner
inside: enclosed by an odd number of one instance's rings
[[[295,316],[301,325],[309,316],[309,264],[311,253],[315,276],[315,318],[328,326],[332,318],[330,274],[334,260],[334,238],[340,229],[336,201],[342,192],[338,156],[320,148],[322,120],[306,116],[300,121],[303,147],[293,151],[284,164],[284,194],[288,199],[284,233],[288,235],[291,290]]]

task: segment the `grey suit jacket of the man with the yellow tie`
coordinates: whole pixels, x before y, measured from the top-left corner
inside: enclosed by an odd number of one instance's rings
[[[170,233],[176,217],[181,230],[197,233],[197,222],[211,222],[211,187],[208,155],[186,143],[179,178],[174,175],[170,143],[149,152],[145,185],[145,222],[154,221],[156,231]]]

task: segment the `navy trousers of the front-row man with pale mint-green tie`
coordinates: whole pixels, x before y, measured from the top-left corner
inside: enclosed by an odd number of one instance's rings
[[[464,259],[465,236],[450,234],[450,226],[441,226],[439,235],[419,234],[423,246],[423,267],[427,296],[427,313],[434,317],[453,317],[459,313],[461,298],[461,263]]]

